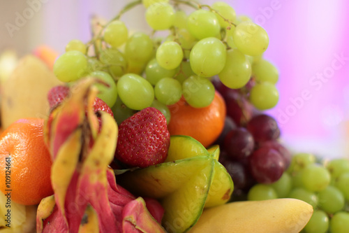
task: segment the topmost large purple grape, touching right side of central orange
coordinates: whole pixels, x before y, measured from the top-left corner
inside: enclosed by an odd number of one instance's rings
[[[239,126],[244,126],[253,116],[253,105],[237,90],[228,92],[225,96],[227,115]]]

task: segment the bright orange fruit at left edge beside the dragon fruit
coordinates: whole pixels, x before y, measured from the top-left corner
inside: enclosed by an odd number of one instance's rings
[[[53,194],[43,125],[43,119],[24,118],[0,135],[0,190],[18,204],[38,204]]]

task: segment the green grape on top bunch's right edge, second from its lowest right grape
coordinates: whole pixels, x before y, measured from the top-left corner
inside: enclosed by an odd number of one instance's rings
[[[279,71],[276,67],[265,59],[255,62],[252,66],[255,80],[276,84],[279,80]]]

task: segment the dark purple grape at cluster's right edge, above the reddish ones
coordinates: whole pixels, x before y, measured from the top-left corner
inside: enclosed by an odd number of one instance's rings
[[[255,115],[247,122],[246,128],[256,142],[278,139],[280,129],[274,118],[266,114]]]

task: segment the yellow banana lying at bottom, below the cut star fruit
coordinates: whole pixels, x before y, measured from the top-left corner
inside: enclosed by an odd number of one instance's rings
[[[298,199],[231,202],[205,209],[189,233],[298,233],[313,207]]]

